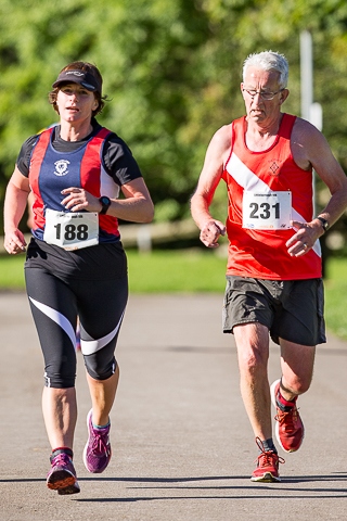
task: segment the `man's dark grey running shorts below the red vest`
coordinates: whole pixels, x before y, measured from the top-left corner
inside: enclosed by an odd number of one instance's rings
[[[279,339],[301,345],[326,342],[322,279],[264,280],[227,276],[223,332],[259,322],[277,344]]]

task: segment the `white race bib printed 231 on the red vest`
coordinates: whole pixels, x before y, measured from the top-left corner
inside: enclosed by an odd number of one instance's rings
[[[243,193],[243,228],[284,230],[291,228],[292,192]]]

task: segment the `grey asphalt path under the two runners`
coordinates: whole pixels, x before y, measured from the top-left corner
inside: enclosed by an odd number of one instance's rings
[[[1,521],[347,520],[347,343],[329,334],[299,398],[297,453],[280,455],[281,483],[253,483],[257,448],[239,391],[222,295],[131,295],[117,359],[113,458],[87,472],[90,399],[78,354],[75,467],[80,494],[46,486],[50,447],[41,416],[42,356],[26,295],[0,294]],[[271,345],[269,378],[279,378]],[[274,411],[273,411],[274,415]]]

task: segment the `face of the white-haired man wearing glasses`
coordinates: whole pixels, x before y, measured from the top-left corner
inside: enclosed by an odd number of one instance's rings
[[[247,120],[265,127],[271,125],[279,118],[281,105],[290,93],[287,89],[281,90],[280,74],[275,71],[262,71],[249,66],[244,79],[241,90],[246,105]]]

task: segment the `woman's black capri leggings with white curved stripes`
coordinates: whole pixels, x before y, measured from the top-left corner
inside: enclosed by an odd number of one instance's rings
[[[67,282],[47,267],[26,266],[27,294],[43,353],[47,386],[75,386],[77,317],[88,373],[106,380],[115,372],[114,354],[128,300],[127,269],[121,271],[120,277],[106,280],[69,278]]]

